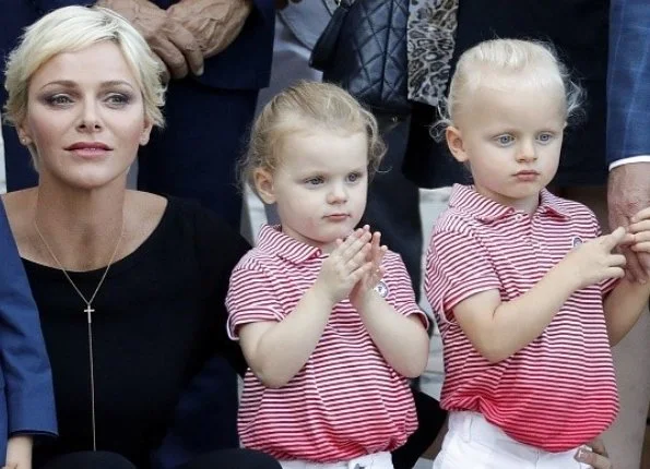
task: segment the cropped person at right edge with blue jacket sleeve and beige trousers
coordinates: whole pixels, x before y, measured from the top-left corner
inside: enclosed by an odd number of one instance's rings
[[[650,206],[650,3],[611,0],[607,70],[607,205],[610,226],[628,226]],[[650,279],[650,256],[624,249],[631,278]],[[618,469],[637,469],[650,399],[648,314],[615,350],[616,372],[629,398],[608,436]]]

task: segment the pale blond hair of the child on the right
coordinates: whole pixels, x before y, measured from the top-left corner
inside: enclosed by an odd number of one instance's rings
[[[579,110],[583,92],[570,80],[569,72],[554,48],[545,43],[521,39],[493,39],[465,50],[456,65],[449,95],[437,127],[454,125],[465,103],[481,86],[507,88],[513,83],[559,91],[565,119]],[[507,91],[507,89],[506,89]]]

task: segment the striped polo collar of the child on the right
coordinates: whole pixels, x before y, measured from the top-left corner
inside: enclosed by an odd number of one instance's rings
[[[552,216],[562,219],[569,219],[569,214],[559,203],[559,199],[542,189],[540,205],[533,216]],[[473,185],[454,184],[449,206],[469,214],[482,223],[496,221],[498,219],[519,213],[516,208],[499,204],[481,195]]]

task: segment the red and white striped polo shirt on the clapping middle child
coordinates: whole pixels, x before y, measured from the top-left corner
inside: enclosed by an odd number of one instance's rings
[[[277,227],[263,227],[258,246],[231,276],[231,337],[244,324],[291,314],[326,257]],[[426,322],[401,257],[389,251],[382,266],[377,291],[399,313]],[[392,450],[416,426],[407,381],[386,362],[348,300],[336,304],[314,353],[287,385],[268,388],[250,369],[244,380],[241,443],[277,459],[335,462]]]

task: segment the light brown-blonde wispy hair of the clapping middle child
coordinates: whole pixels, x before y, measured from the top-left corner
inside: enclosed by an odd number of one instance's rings
[[[284,139],[310,129],[365,133],[370,177],[386,154],[377,120],[370,111],[339,86],[302,81],[275,95],[256,119],[248,151],[239,161],[240,183],[248,182],[255,189],[255,170],[272,173],[280,163]]]

